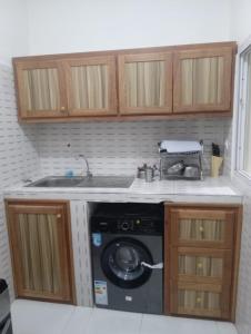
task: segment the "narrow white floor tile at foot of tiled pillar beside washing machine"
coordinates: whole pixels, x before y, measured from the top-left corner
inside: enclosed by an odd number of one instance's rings
[[[89,334],[89,323],[93,308],[76,307],[62,334]]]

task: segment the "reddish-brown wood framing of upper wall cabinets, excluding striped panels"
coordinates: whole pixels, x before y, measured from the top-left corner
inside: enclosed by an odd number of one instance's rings
[[[180,117],[198,117],[201,116],[231,116],[232,96],[233,96],[233,78],[234,78],[234,55],[237,52],[235,42],[217,42],[204,45],[184,45],[173,47],[157,47],[129,50],[110,50],[93,51],[84,53],[69,55],[51,55],[20,57],[13,59],[16,68],[16,87],[19,100],[19,120],[26,122],[52,122],[52,121],[84,121],[84,120],[142,120],[142,119],[172,119]],[[222,105],[202,105],[185,107],[180,105],[179,100],[179,60],[182,57],[202,57],[202,56],[220,56],[224,57],[224,101]],[[173,57],[175,58],[173,65]],[[109,110],[73,110],[72,97],[69,94],[69,66],[72,63],[96,62],[96,59],[109,63],[110,68],[110,95]],[[151,61],[164,60],[167,69],[165,78],[165,104],[163,107],[127,107],[124,96],[124,61]],[[34,65],[52,62],[60,63],[60,91],[61,107],[58,112],[40,112],[27,115],[26,106],[23,106],[23,90],[21,88],[21,69]],[[116,62],[116,63],[114,63]],[[68,63],[68,65],[66,65]],[[66,70],[67,67],[67,70]],[[67,71],[67,75],[66,75]],[[62,78],[62,79],[61,79]],[[230,80],[230,81],[229,81]],[[173,90],[174,89],[174,90]],[[68,96],[68,98],[67,98]],[[67,100],[66,100],[67,98]],[[64,107],[66,106],[66,107]],[[68,112],[70,110],[70,115]]]

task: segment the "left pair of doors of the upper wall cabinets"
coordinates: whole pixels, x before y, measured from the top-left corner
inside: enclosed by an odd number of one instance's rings
[[[70,119],[117,114],[116,58],[14,60],[20,119]]]

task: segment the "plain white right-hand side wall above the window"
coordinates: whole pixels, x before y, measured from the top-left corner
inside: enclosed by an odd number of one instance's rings
[[[251,1],[232,0],[231,35],[242,43],[251,35]]]

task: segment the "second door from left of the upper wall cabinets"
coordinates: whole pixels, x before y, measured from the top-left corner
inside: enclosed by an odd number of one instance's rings
[[[117,114],[114,56],[68,59],[64,68],[71,116]]]

